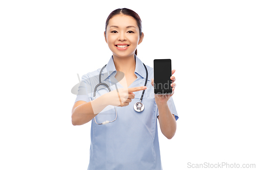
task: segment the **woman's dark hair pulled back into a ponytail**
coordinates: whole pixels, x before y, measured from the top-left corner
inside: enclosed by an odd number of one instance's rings
[[[118,15],[118,14],[124,14],[124,15],[129,15],[129,16],[133,17],[136,20],[137,25],[139,27],[140,36],[142,35],[141,19],[140,19],[139,15],[136,12],[134,12],[133,10],[130,10],[130,9],[127,9],[127,8],[119,8],[119,9],[116,9],[116,10],[112,11],[110,13],[110,15],[108,16],[108,18],[106,18],[105,36],[106,36],[106,27],[109,25],[110,19],[113,16]],[[135,54],[137,55],[137,49],[135,51]]]

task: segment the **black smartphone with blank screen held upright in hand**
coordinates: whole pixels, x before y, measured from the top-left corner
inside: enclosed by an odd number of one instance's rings
[[[155,59],[154,60],[154,93],[155,94],[170,94],[173,93],[173,88],[170,84],[172,76],[172,60],[170,59]]]

